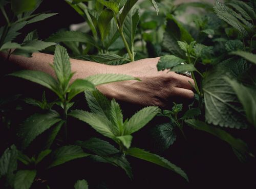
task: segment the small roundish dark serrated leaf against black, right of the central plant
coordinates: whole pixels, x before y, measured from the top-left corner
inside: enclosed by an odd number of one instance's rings
[[[152,129],[154,145],[157,150],[166,150],[176,140],[176,132],[173,123],[159,124]]]

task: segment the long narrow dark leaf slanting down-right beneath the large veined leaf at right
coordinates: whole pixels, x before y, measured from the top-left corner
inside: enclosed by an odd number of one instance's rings
[[[248,153],[248,147],[243,140],[239,138],[234,138],[229,133],[220,128],[209,126],[206,123],[195,119],[186,120],[185,122],[188,124],[188,126],[193,127],[194,129],[205,131],[207,133],[217,136],[218,138],[228,143],[232,148],[238,150],[243,154]]]

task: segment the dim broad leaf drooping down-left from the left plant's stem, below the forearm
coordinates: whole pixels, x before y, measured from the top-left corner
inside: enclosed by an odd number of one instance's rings
[[[20,127],[18,135],[22,138],[22,148],[25,149],[41,133],[61,121],[56,111],[44,114],[33,114]]]

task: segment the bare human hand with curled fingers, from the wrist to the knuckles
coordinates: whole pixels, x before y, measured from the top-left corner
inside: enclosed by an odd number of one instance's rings
[[[122,81],[98,86],[104,95],[120,101],[165,107],[168,102],[180,99],[194,98],[194,80],[168,72],[157,70],[160,58],[148,58],[119,66],[112,66],[110,73],[131,75],[141,81]],[[188,82],[189,81],[189,82]]]

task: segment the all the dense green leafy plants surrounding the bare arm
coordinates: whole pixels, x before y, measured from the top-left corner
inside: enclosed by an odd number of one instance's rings
[[[245,132],[255,134],[256,128],[254,0],[226,1],[225,4],[216,1],[214,6],[208,3],[175,6],[168,0],[66,0],[70,8],[84,18],[84,27],[77,31],[60,30],[45,41],[39,40],[37,32],[32,31],[23,42],[16,41],[20,29],[55,15],[33,14],[40,3],[36,0],[0,0],[0,9],[6,19],[6,24],[0,28],[0,51],[9,56],[27,57],[42,50],[52,52],[52,68],[56,75],[53,78],[32,70],[8,75],[8,78],[14,76],[42,85],[47,93],[43,93],[41,100],[23,95],[3,95],[0,99],[1,135],[14,138],[1,142],[5,148],[0,158],[1,187],[36,188],[40,183],[40,187],[50,188],[54,179],[42,180],[44,174],[57,166],[65,168],[66,162],[78,158],[110,163],[133,179],[129,160],[135,157],[171,170],[188,181],[186,170],[132,143],[134,133],[156,116],[165,121],[151,129],[151,139],[158,152],[178,143],[178,135],[187,138],[189,133],[185,133],[184,128],[191,127],[223,140],[240,161],[254,160],[253,144],[240,139]],[[180,21],[178,17],[185,15],[188,8],[200,10],[200,15],[195,13],[185,18],[186,21]],[[10,9],[13,15],[6,12]],[[107,99],[95,87],[125,80],[139,82],[139,78],[100,74],[71,83],[74,73],[69,56],[110,65],[161,56],[158,70],[191,73],[195,81],[195,85],[190,83],[195,89],[195,99],[190,104],[173,102],[166,110],[145,107],[127,117],[115,99]],[[88,109],[81,109],[86,107],[85,103],[84,106],[76,103],[81,92],[85,94]],[[55,100],[50,98],[49,102],[48,93]],[[22,109],[28,110],[28,117],[13,120]],[[70,128],[75,124],[90,129],[83,122],[96,132],[89,138],[74,137]],[[238,130],[236,136],[232,135],[233,130]],[[65,171],[68,172],[68,168]],[[77,178],[74,187],[88,188],[90,182],[88,184],[86,179]]]

